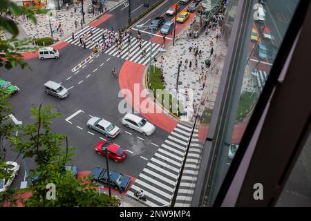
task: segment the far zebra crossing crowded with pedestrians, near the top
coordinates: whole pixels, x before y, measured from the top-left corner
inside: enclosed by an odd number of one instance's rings
[[[83,37],[84,33],[88,33],[91,30],[93,32],[93,37],[88,37],[86,41],[86,48],[92,49],[93,44],[97,41],[99,41],[100,46],[102,46],[102,28],[93,28],[91,26],[86,26],[82,30],[79,30],[79,32],[75,33],[75,39],[72,39],[72,37],[68,37],[68,39],[66,39],[65,41],[75,46],[80,46],[79,37]],[[151,42],[144,40],[142,40],[142,47],[140,48],[138,39],[135,37],[131,37],[130,45],[127,44],[127,39],[124,40],[124,44],[122,46],[120,54],[119,50],[117,50],[116,45],[112,46],[111,48],[107,48],[104,53],[114,57],[120,57],[122,59],[133,61],[138,64],[147,65],[150,61],[150,55],[152,59],[153,57],[156,57],[156,55],[158,55],[159,53],[160,48],[160,44],[153,43],[151,52]],[[145,57],[142,57],[143,50],[146,50]]]

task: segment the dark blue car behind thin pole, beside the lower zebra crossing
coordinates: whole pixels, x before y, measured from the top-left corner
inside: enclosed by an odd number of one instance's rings
[[[92,180],[96,182],[102,182],[108,185],[108,173],[107,170],[96,166],[90,174]],[[115,171],[110,171],[111,186],[119,191],[124,191],[129,186],[131,177],[123,175]]]

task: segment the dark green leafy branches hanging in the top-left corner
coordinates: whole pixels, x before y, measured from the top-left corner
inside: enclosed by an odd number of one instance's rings
[[[34,39],[16,39],[19,30],[12,17],[24,15],[33,23],[37,23],[35,13],[42,14],[46,12],[45,9],[23,8],[12,1],[0,0],[0,68],[4,66],[6,69],[10,69],[17,65],[21,66],[21,68],[30,68],[27,62],[23,60],[20,52],[35,50],[37,47],[29,47]],[[12,37],[6,40],[3,39],[4,32],[9,32]]]

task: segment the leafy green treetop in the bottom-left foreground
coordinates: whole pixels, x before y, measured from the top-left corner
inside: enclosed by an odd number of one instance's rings
[[[97,193],[89,177],[77,180],[64,169],[72,161],[74,148],[68,147],[65,135],[53,133],[50,128],[52,120],[61,114],[53,111],[50,104],[31,108],[31,113],[35,122],[21,126],[19,135],[11,138],[17,152],[23,153],[23,157],[33,157],[37,163],[37,168],[30,171],[30,177],[37,179],[30,186],[32,196],[25,206],[117,206],[115,198]],[[46,198],[49,183],[56,185],[55,200]]]

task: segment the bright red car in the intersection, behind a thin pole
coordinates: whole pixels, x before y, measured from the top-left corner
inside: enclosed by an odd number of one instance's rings
[[[110,142],[102,141],[95,146],[95,151],[103,156],[106,156],[106,149],[108,157],[115,162],[122,162],[125,160],[127,153],[120,146],[112,144]]]

